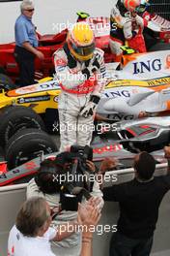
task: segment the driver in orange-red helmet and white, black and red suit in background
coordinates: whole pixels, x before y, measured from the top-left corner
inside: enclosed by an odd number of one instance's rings
[[[121,47],[125,45],[126,41],[130,42],[139,32],[139,29],[141,30],[140,33],[143,30],[143,18],[136,14],[139,6],[140,0],[118,0],[116,6],[111,10],[110,48],[112,53],[116,54],[116,62],[121,62],[123,54]],[[136,40],[138,41],[136,45],[141,45],[141,37]],[[146,51],[145,44],[140,47],[140,51]]]

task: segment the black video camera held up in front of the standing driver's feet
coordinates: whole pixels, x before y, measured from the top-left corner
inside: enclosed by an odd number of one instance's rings
[[[93,160],[93,148],[72,145],[71,152],[57,155],[56,161],[64,166],[65,181],[61,185],[60,203],[65,210],[76,211],[82,196],[89,199],[92,185],[89,184],[87,173],[91,173],[86,161]]]

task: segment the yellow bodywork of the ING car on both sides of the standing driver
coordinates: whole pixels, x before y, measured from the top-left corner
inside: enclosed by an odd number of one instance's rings
[[[58,96],[60,84],[51,78],[41,80],[37,83],[8,92],[0,93],[0,109],[6,106],[25,106],[32,108],[35,112],[44,113],[46,109],[58,109]],[[149,87],[155,91],[168,88],[170,78],[156,80],[112,80],[108,81],[105,91],[110,88],[123,86]]]

